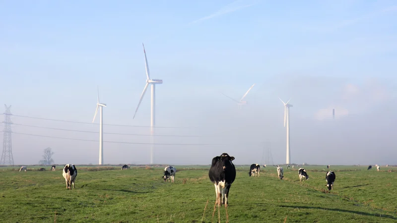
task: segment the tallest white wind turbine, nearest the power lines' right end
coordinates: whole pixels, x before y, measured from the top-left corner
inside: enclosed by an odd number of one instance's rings
[[[145,68],[146,68],[146,85],[143,88],[142,95],[140,96],[138,106],[136,107],[135,113],[133,114],[132,119],[136,115],[136,111],[139,109],[139,105],[142,102],[143,96],[146,93],[147,86],[151,85],[151,100],[150,100],[150,134],[151,134],[151,145],[150,145],[150,164],[153,164],[153,143],[154,143],[154,126],[155,126],[155,111],[156,111],[156,84],[162,84],[163,80],[159,79],[150,79],[149,75],[149,65],[147,64],[145,46],[143,45],[143,55],[145,56]]]

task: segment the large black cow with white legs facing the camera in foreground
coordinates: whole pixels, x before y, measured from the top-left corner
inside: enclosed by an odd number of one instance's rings
[[[236,179],[236,167],[232,163],[233,160],[234,157],[229,156],[227,153],[222,153],[220,157],[212,159],[211,167],[208,171],[209,179],[215,185],[215,205],[218,204],[218,207],[222,206],[222,204],[225,204],[225,207],[229,205],[230,186]]]

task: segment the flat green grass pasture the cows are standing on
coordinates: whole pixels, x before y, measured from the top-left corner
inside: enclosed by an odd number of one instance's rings
[[[297,169],[283,167],[280,180],[275,167],[262,168],[260,177],[249,177],[248,166],[236,166],[228,215],[224,207],[219,209],[221,222],[397,222],[396,167],[381,167],[378,172],[331,166],[336,180],[330,193],[324,167],[305,166],[310,178],[300,182]],[[62,167],[52,172],[46,168],[27,172],[0,168],[1,223],[218,221],[218,210],[212,217],[215,189],[208,179],[209,166],[176,166],[175,183],[162,181],[163,167],[92,171],[98,168],[76,166],[72,190],[66,190]]]

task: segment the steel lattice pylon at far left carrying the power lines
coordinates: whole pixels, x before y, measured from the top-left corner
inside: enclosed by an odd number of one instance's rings
[[[3,138],[3,153],[1,154],[0,165],[14,165],[14,158],[12,158],[11,145],[11,106],[5,106],[4,112],[4,138]]]

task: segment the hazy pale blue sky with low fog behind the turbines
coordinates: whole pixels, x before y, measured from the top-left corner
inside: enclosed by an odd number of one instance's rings
[[[104,163],[148,164],[150,89],[132,118],[142,43],[150,77],[163,80],[156,164],[208,165],[224,152],[236,165],[265,164],[265,149],[285,164],[278,97],[293,105],[291,163],[396,164],[395,21],[393,0],[0,0],[14,164],[38,164],[47,147],[56,164],[97,164],[97,86]],[[221,94],[239,100],[254,83],[241,110]]]

